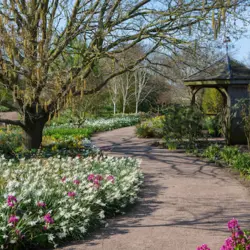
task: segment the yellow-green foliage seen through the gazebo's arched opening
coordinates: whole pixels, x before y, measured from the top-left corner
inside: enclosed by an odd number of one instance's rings
[[[217,114],[223,107],[223,97],[217,89],[205,89],[202,108],[206,114]]]

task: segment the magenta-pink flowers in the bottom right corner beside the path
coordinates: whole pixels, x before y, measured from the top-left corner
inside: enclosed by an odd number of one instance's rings
[[[249,232],[243,232],[236,219],[230,220],[227,227],[232,234],[225,240],[220,250],[250,250]],[[210,250],[210,248],[203,244],[197,247],[197,250]]]

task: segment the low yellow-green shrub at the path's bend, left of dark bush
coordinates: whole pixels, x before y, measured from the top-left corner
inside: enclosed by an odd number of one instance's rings
[[[138,124],[136,134],[143,138],[162,138],[164,127],[164,116],[157,116]]]

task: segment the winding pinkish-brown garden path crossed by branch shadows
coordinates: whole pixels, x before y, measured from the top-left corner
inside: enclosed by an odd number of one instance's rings
[[[196,250],[207,243],[220,249],[227,221],[250,225],[250,195],[225,169],[184,153],[151,147],[134,127],[99,133],[93,142],[111,146],[108,153],[142,159],[145,184],[140,200],[127,214],[108,221],[87,240],[65,250]]]

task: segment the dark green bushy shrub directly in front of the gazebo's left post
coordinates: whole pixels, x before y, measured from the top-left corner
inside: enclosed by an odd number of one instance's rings
[[[165,111],[164,139],[195,147],[202,134],[203,113],[196,107],[171,106]]]

